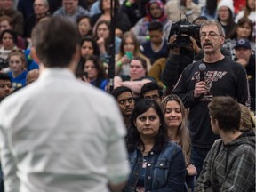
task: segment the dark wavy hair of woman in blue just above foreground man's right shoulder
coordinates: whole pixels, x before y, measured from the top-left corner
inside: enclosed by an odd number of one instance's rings
[[[102,79],[106,78],[106,73],[105,73],[105,70],[103,68],[103,64],[100,61],[99,57],[97,57],[96,55],[90,55],[90,56],[86,57],[85,60],[84,60],[84,65],[85,65],[87,60],[92,60],[92,62],[94,64],[94,67],[98,71],[98,76],[97,76],[97,79],[96,79],[96,82],[95,82],[95,86],[100,87],[100,83],[101,83]],[[83,71],[84,71],[84,65],[81,66]]]

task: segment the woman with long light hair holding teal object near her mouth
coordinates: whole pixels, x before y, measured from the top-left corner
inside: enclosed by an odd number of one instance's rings
[[[129,76],[130,61],[133,57],[141,57],[147,61],[147,68],[151,67],[150,60],[140,52],[140,44],[136,36],[127,31],[122,37],[120,52],[116,56],[116,76]]]

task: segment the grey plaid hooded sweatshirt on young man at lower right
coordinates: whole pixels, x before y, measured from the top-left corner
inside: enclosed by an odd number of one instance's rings
[[[204,160],[196,191],[255,191],[255,132],[224,144],[216,140]]]

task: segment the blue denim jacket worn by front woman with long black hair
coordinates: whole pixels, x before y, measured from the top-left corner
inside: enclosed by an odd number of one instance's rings
[[[136,148],[129,153],[131,174],[125,192],[134,192],[142,168],[143,156]],[[154,146],[148,152],[148,162],[145,172],[145,191],[184,191],[185,185],[185,160],[180,146],[172,142],[166,142],[164,148]]]

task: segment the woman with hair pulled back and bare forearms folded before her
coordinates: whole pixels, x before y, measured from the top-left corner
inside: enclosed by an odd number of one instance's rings
[[[147,62],[141,57],[133,57],[130,62],[129,76],[115,76],[114,88],[118,86],[127,86],[134,93],[134,97],[140,97],[140,90],[143,84],[155,81],[154,78],[147,76]]]

